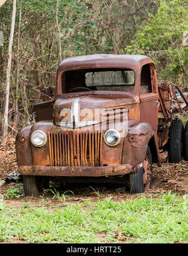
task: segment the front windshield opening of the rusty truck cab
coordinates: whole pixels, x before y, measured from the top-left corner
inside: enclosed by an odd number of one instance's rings
[[[72,70],[63,73],[62,92],[88,90],[114,90],[130,92],[135,84],[135,74],[127,69]]]

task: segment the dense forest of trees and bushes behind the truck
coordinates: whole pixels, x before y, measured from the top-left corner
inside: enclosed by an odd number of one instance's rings
[[[3,131],[13,1],[0,8],[0,136]],[[142,54],[158,80],[187,84],[187,0],[17,0],[8,109],[9,137],[34,122],[39,87],[55,86],[67,57]]]

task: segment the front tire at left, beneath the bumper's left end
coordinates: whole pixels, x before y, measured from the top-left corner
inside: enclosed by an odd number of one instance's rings
[[[22,178],[25,196],[39,196],[36,176],[24,175]]]

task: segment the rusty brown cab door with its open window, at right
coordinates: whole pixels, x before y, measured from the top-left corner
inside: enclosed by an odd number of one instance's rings
[[[140,77],[140,122],[148,122],[157,131],[159,95],[157,75],[153,64],[142,67]]]

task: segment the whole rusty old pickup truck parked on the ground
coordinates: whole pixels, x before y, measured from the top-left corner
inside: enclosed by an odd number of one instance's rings
[[[86,55],[63,60],[55,87],[41,88],[36,122],[16,136],[26,196],[51,179],[152,185],[152,163],[188,160],[186,93],[157,82],[144,55]]]

